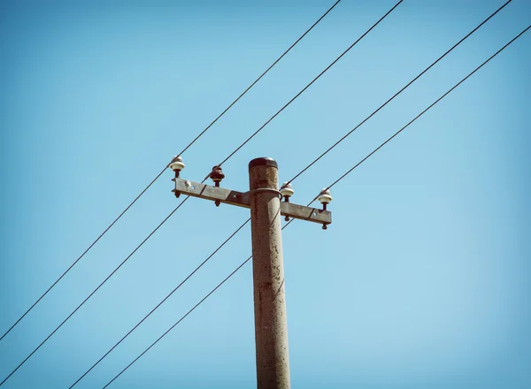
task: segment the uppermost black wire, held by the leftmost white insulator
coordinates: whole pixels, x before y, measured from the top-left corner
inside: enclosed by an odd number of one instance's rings
[[[241,95],[239,95],[238,97],[236,97],[235,101],[232,102],[232,103],[230,103],[230,104],[227,106],[227,108],[226,108],[224,111],[222,111],[222,112],[219,114],[219,116],[218,116],[217,118],[215,118],[215,119],[212,121],[212,123],[211,123],[210,125],[206,126],[206,127],[204,128],[204,130],[203,130],[201,133],[199,133],[193,141],[190,141],[189,144],[188,144],[188,146],[186,146],[184,149],[182,149],[182,151],[181,151],[181,153],[179,153],[179,155],[182,155],[186,150],[189,149],[190,146],[192,146],[192,145],[193,145],[193,144],[194,144],[199,138],[201,138],[201,136],[203,136],[204,133],[206,133],[206,132],[207,132],[207,131],[208,131],[208,130],[214,125],[214,123],[216,123],[216,122],[219,120],[219,118],[221,118],[223,115],[225,115],[225,113],[226,113],[228,110],[230,110],[230,109],[235,105],[235,103],[237,103],[237,102],[243,97],[243,95],[247,94],[247,92],[249,92],[250,88],[253,88],[253,87],[258,83],[258,81],[261,80],[261,79],[266,75],[266,73],[269,72],[269,71],[273,68],[274,65],[278,64],[278,63],[281,61],[281,59],[282,59],[284,56],[286,56],[286,54],[288,54],[288,52],[289,52],[291,49],[293,49],[293,48],[296,46],[296,44],[297,44],[298,42],[300,42],[300,41],[304,38],[304,36],[306,36],[306,34],[308,34],[310,31],[312,31],[313,27],[317,26],[317,25],[319,24],[319,22],[320,22],[322,19],[324,19],[324,18],[327,16],[327,14],[328,14],[330,11],[332,11],[332,10],[335,8],[335,6],[336,6],[337,4],[339,4],[340,2],[341,2],[341,0],[337,0],[337,1],[335,2],[335,4],[333,4],[333,5],[332,5],[332,6],[331,6],[331,7],[330,7],[330,8],[329,8],[329,9],[328,9],[328,10],[327,10],[327,11],[326,11],[326,12],[325,12],[325,13],[324,13],[324,14],[323,14],[323,15],[322,15],[322,16],[321,16],[321,17],[320,17],[315,23],[312,24],[312,27],[308,28],[308,29],[304,32],[304,34],[302,34],[302,35],[301,35],[301,36],[300,36],[295,42],[293,42],[293,43],[291,44],[291,46],[289,46],[289,48],[288,48],[287,50],[285,50],[285,51],[282,53],[281,57],[278,57],[278,58],[273,62],[273,64],[270,65],[270,66],[266,69],[265,72],[263,72],[262,74],[260,74],[260,76],[258,77],[258,79],[254,80],[254,81],[250,84],[250,86],[249,86],[248,88],[246,88],[246,89],[242,92]],[[83,256],[85,256],[85,254],[87,254],[87,253],[89,252],[89,250],[90,250],[94,245],[96,245],[96,243],[97,243],[100,239],[102,239],[102,237],[104,236],[104,234],[107,233],[107,232],[112,228],[112,226],[115,225],[115,223],[118,222],[118,220],[119,220],[119,219],[120,219],[120,218],[121,218],[121,217],[127,212],[127,210],[129,210],[129,209],[133,206],[133,204],[135,204],[135,202],[136,202],[136,201],[137,201],[137,200],[138,200],[138,199],[139,199],[139,198],[140,198],[140,197],[141,197],[141,196],[142,196],[142,195],[143,195],[143,194],[144,194],[144,193],[145,193],[145,192],[146,192],[146,191],[147,191],[152,185],[153,185],[153,183],[155,183],[155,181],[157,181],[157,179],[158,179],[158,178],[159,178],[159,177],[165,172],[166,167],[167,167],[167,165],[164,167],[164,169],[163,169],[161,172],[158,173],[158,175],[157,175],[154,179],[151,180],[150,184],[148,184],[147,187],[144,187],[144,188],[143,188],[143,190],[142,190],[142,192],[140,193],[140,195],[137,195],[137,196],[135,197],[135,200],[133,200],[133,202],[130,202],[129,205],[127,205],[126,209],[125,209],[125,210],[122,210],[122,212],[119,214],[119,216],[116,217],[116,218],[112,221],[112,223],[111,223],[109,226],[107,226],[107,228],[105,228],[104,232],[101,233],[101,234],[96,238],[96,240],[94,240],[94,241],[89,245],[89,248],[87,248],[87,249],[81,254],[81,256],[79,256],[79,257],[78,257],[78,258],[77,258],[77,259],[76,259],[76,260],[75,260],[75,261],[74,261],[74,262],[73,262],[73,263],[72,263],[72,264],[71,264],[71,265],[70,265],[70,266],[69,266],[69,267],[63,272],[63,274],[61,274],[61,275],[59,276],[59,278],[55,280],[55,282],[54,282],[54,283],[53,283],[53,284],[52,284],[52,285],[46,290],[46,292],[44,292],[44,293],[41,295],[41,297],[39,297],[39,298],[38,298],[38,299],[32,304],[32,306],[29,307],[29,309],[27,309],[26,312],[24,312],[24,314],[23,314],[21,317],[19,317],[19,319],[18,319],[14,324],[12,324],[12,326],[9,328],[9,330],[7,330],[7,332],[5,332],[4,335],[2,335],[2,337],[0,338],[0,341],[1,341],[2,339],[4,339],[4,337],[5,337],[9,332],[11,332],[12,329],[13,329],[17,324],[19,324],[20,320],[22,320],[24,317],[26,317],[26,315],[27,315],[32,309],[35,308],[35,305],[37,305],[37,304],[39,303],[39,301],[41,301],[42,298],[43,298],[46,294],[48,294],[48,293],[50,292],[50,290],[51,290],[54,286],[56,286],[56,285],[58,284],[58,282],[59,282],[63,277],[65,277],[66,273],[68,273],[68,272],[73,268],[73,266],[74,266],[76,263],[78,263],[78,262],[81,260],[81,258],[82,258]]]

